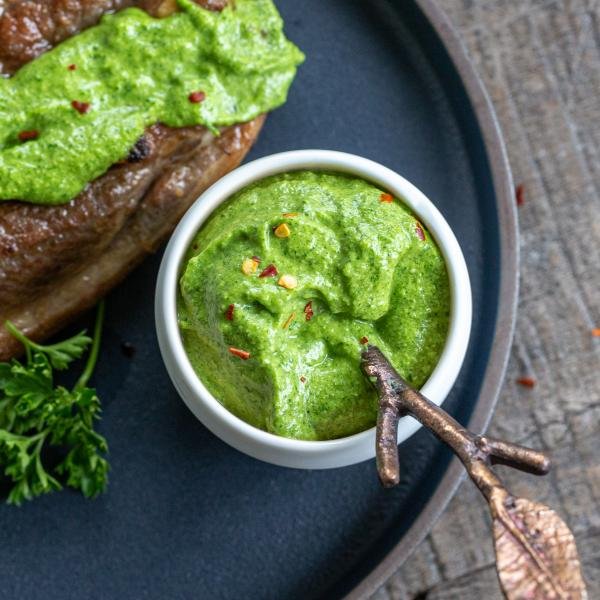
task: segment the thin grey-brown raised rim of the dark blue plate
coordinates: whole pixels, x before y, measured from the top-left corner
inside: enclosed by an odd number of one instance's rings
[[[498,314],[481,391],[468,422],[469,429],[483,433],[494,414],[502,388],[517,317],[519,226],[514,183],[496,111],[458,30],[446,12],[438,6],[437,0],[414,2],[440,38],[465,87],[482,133],[497,198],[501,265]],[[437,489],[415,522],[384,559],[345,596],[346,600],[359,600],[370,596],[406,562],[430,533],[464,478],[463,466],[457,458],[453,458]]]

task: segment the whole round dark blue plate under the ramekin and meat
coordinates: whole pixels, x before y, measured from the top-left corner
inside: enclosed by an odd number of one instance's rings
[[[250,159],[330,148],[380,161],[441,209],[473,286],[470,350],[445,408],[485,427],[516,291],[516,225],[500,138],[477,78],[430,0],[278,0],[306,53],[289,102]],[[374,461],[307,472],[229,448],[188,411],[153,324],[160,256],[108,298],[95,376],[110,443],[108,492],[0,506],[0,596],[23,599],[336,598],[367,593],[431,527],[460,469],[421,431],[402,483]],[[128,342],[133,357],[121,352]]]

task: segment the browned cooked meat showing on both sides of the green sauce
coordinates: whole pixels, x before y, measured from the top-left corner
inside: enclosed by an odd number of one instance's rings
[[[137,5],[166,16],[166,0],[14,0],[0,15],[0,69],[15,69],[93,25]],[[221,9],[222,0],[199,4]],[[0,4],[1,6],[1,4]],[[1,10],[1,9],[0,9]],[[41,340],[93,306],[156,250],[195,198],[236,167],[264,117],[225,128],[148,128],[127,160],[65,205],[0,203],[0,323]],[[0,328],[0,359],[20,350]]]

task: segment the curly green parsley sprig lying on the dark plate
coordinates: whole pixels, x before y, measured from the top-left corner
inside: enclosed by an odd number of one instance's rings
[[[94,371],[104,321],[104,303],[98,305],[93,339],[81,333],[52,345],[28,339],[10,321],[5,327],[25,347],[23,364],[0,363],[0,473],[11,484],[10,504],[21,504],[62,485],[92,498],[108,481],[106,440],[94,431],[100,401],[87,387]],[[67,369],[91,343],[81,377],[69,390],[54,385],[53,370]],[[44,450],[55,447],[64,456],[51,467]]]

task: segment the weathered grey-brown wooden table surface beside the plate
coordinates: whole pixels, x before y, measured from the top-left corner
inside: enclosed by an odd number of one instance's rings
[[[558,511],[600,598],[600,0],[439,0],[495,106],[516,183],[521,291],[490,432],[551,453],[545,478],[503,469]],[[533,389],[519,386],[534,377]],[[465,481],[372,600],[496,600],[487,507]]]

